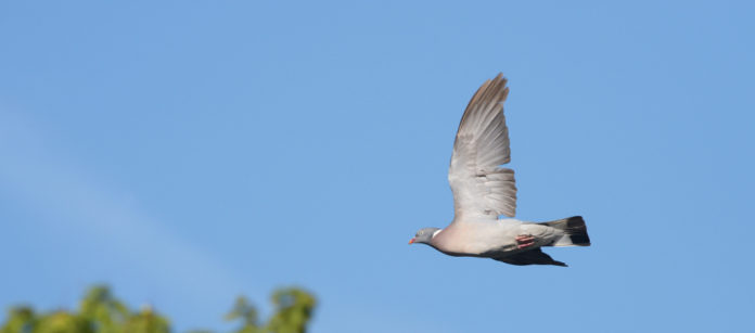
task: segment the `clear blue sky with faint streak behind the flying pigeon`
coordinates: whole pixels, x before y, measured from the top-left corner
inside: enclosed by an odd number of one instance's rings
[[[0,305],[108,283],[178,332],[317,294],[311,332],[744,331],[747,2],[0,4]],[[510,80],[517,217],[570,268],[408,246],[456,127]],[[10,269],[9,269],[10,268]]]

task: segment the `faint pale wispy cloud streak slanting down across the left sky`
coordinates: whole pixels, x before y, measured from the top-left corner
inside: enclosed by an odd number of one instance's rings
[[[103,185],[33,121],[0,111],[3,189],[35,210],[60,217],[72,233],[101,240],[107,251],[138,270],[136,276],[150,280],[145,284],[183,295],[185,302],[217,297],[232,302],[229,295],[240,292],[242,283],[231,269],[143,212],[133,195]]]

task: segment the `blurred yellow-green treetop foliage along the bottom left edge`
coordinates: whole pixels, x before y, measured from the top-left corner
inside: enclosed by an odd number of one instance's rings
[[[245,297],[236,299],[226,320],[241,321],[234,333],[305,333],[316,306],[315,297],[299,289],[284,289],[272,295],[274,312],[266,323]],[[151,307],[139,311],[115,298],[110,289],[95,285],[81,299],[78,312],[56,310],[38,313],[31,307],[17,306],[8,311],[0,333],[170,333],[167,318]],[[192,331],[189,333],[213,333]]]

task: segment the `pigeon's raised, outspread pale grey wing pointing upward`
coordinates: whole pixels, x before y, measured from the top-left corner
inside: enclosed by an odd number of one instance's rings
[[[516,210],[514,171],[509,163],[509,129],[503,101],[509,94],[500,74],[474,94],[461,118],[448,181],[453,191],[455,220],[513,217]]]

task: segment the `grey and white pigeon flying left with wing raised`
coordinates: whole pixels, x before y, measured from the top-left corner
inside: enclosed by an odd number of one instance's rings
[[[482,257],[511,265],[566,264],[553,260],[542,246],[589,246],[580,216],[549,222],[526,222],[514,217],[514,170],[503,102],[509,95],[501,74],[483,84],[464,111],[453,142],[448,182],[453,192],[453,221],[445,229],[423,228],[409,241],[427,244],[458,257]]]

